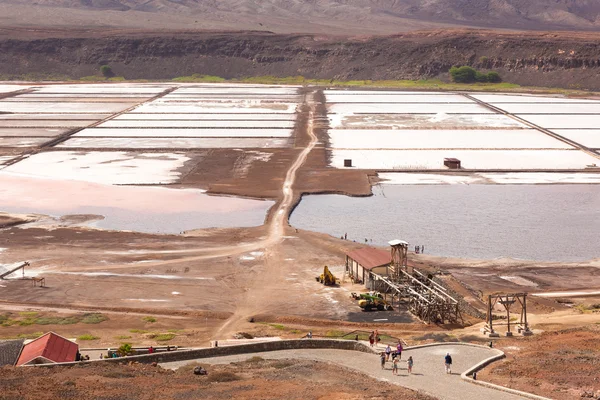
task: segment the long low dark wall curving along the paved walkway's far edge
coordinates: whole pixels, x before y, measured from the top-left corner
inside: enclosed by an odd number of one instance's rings
[[[337,349],[337,350],[353,350],[363,353],[374,353],[374,350],[363,343],[353,340],[325,340],[325,339],[296,339],[296,340],[279,340],[276,342],[261,342],[252,344],[243,344],[239,346],[227,347],[211,347],[206,349],[196,350],[180,350],[169,351],[154,354],[143,354],[139,356],[107,358],[104,360],[84,361],[83,363],[128,363],[139,362],[150,364],[153,362],[165,363],[171,361],[194,360],[197,358],[222,357],[235,354],[261,353],[267,351],[278,350],[299,350],[299,349]],[[82,362],[60,363],[60,364],[45,364],[44,367],[61,366],[61,365],[76,365]]]

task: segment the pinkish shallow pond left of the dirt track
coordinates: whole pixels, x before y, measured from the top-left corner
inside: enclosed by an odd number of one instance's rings
[[[272,201],[209,196],[198,189],[0,174],[0,212],[53,217],[101,215],[104,219],[88,225],[109,230],[178,234],[202,228],[260,226],[272,205]]]

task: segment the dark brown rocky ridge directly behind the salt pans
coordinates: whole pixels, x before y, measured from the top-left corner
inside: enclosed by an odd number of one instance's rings
[[[420,79],[452,65],[496,70],[523,85],[600,89],[600,34],[437,31],[369,39],[257,32],[0,40],[0,75],[79,78],[109,64],[128,79]]]

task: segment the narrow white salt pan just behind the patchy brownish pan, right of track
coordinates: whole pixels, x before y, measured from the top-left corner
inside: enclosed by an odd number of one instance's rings
[[[479,104],[328,104],[327,110],[329,113],[336,114],[494,114],[493,111]]]

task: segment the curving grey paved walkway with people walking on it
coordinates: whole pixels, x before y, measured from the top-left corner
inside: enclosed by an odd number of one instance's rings
[[[452,359],[454,361],[452,375],[447,375],[444,372],[444,356],[447,352],[452,355]],[[379,356],[375,354],[328,349],[270,351],[254,354],[240,354],[235,356],[169,362],[161,365],[164,368],[177,369],[189,363],[200,362],[204,364],[228,364],[231,362],[244,361],[253,356],[259,356],[266,359],[309,359],[338,364],[365,373],[381,381],[387,381],[413,390],[425,392],[437,397],[438,399],[523,399],[521,396],[474,385],[472,383],[465,382],[460,378],[460,374],[462,372],[495,354],[496,353],[491,349],[452,344],[407,350],[402,353],[402,360],[406,360],[408,356],[413,357],[415,361],[413,374],[408,375],[406,363],[403,362],[400,364],[400,376],[392,375],[391,362],[387,363],[385,370],[382,370],[379,362]]]

